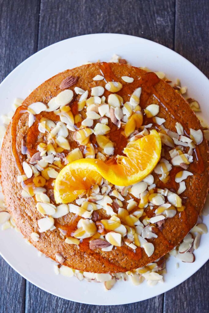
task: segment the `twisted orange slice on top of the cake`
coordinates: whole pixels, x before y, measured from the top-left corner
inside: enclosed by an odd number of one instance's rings
[[[161,140],[157,131],[131,141],[124,149],[126,156],[117,156],[115,162],[80,159],[66,165],[55,180],[56,203],[69,203],[102,177],[114,185],[129,186],[149,175],[159,161]]]

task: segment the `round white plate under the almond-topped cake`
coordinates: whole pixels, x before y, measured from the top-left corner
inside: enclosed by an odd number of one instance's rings
[[[203,115],[209,122],[209,81],[199,69],[164,46],[120,34],[75,37],[34,54],[14,69],[0,85],[1,112],[7,113],[15,97],[25,98],[35,87],[58,72],[87,61],[109,61],[115,53],[132,65],[163,71],[173,80],[180,78],[182,86],[188,87],[189,95],[200,102]],[[204,223],[209,227],[209,216],[204,218]],[[120,282],[108,292],[104,292],[103,284],[55,275],[53,262],[38,257],[37,250],[25,244],[22,235],[13,229],[0,231],[0,253],[20,275],[51,294],[82,303],[116,305],[154,297],[186,280],[208,260],[208,241],[209,234],[203,235],[201,245],[195,251],[196,261],[192,264],[179,262],[180,268],[176,269],[178,260],[170,258],[165,283],[149,287],[146,282],[139,286]]]

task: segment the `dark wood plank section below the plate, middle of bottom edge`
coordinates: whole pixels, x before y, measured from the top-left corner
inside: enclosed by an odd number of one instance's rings
[[[82,282],[81,282],[82,284]],[[127,285],[129,283],[127,282]],[[127,286],[128,288],[128,286]],[[136,287],[140,292],[140,286]],[[52,296],[49,293],[35,287],[27,282],[26,295],[28,301],[26,302],[27,313],[64,313],[64,312],[79,312],[79,313],[128,313],[128,312],[163,312],[163,295],[154,297],[149,300],[131,303],[127,305],[87,305],[76,303],[68,300]],[[105,296],[105,295],[104,295]]]

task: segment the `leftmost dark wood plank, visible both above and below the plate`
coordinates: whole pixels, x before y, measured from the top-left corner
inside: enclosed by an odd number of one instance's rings
[[[39,1],[0,0],[0,81],[36,52]],[[6,231],[5,231],[6,235]],[[25,280],[0,257],[0,312],[24,312]]]

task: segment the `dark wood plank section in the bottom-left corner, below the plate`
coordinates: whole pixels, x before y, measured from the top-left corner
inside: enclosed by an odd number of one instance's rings
[[[25,279],[0,256],[0,313],[25,311]]]

